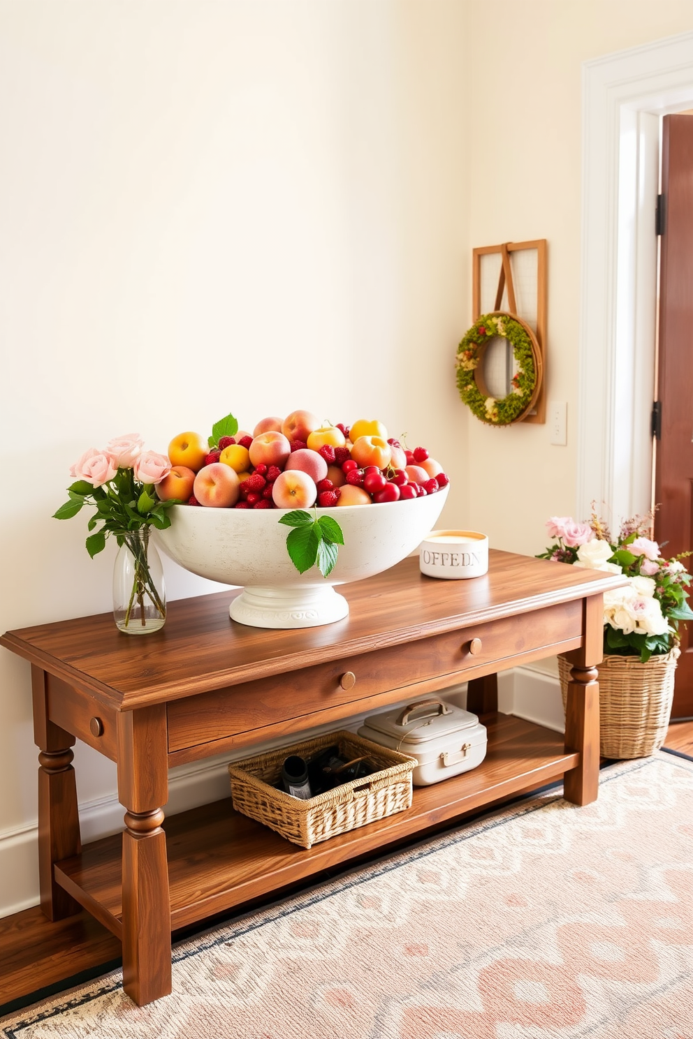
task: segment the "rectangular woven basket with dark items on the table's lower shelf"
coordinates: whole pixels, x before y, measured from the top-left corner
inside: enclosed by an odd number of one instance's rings
[[[306,801],[276,790],[284,760],[289,754],[309,758],[324,747],[339,744],[347,760],[366,754],[378,769],[365,779],[345,782]],[[384,819],[411,805],[411,772],[417,762],[353,732],[328,732],[291,747],[229,766],[234,808],[276,830],[287,841],[310,848],[338,833]]]

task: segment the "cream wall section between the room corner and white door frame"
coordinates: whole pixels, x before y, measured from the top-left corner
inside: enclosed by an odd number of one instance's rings
[[[567,446],[548,425],[468,420],[469,522],[533,554],[576,507],[581,247],[581,64],[693,28],[690,0],[472,0],[470,247],[547,238],[548,399],[567,401]]]

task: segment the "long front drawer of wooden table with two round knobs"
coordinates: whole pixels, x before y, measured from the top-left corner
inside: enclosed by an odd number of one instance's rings
[[[211,743],[250,729],[310,715],[325,708],[402,690],[427,680],[464,681],[465,671],[510,667],[513,658],[547,655],[560,642],[579,639],[582,602],[563,603],[527,614],[525,623],[505,617],[373,649],[290,674],[230,686],[168,703],[169,753]],[[555,649],[553,651],[556,651]],[[354,712],[354,713],[357,713]],[[305,725],[310,726],[310,719]],[[258,734],[260,738],[260,734]]]

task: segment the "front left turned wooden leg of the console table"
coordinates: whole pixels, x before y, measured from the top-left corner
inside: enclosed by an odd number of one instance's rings
[[[162,805],[168,800],[165,705],[118,715],[123,834],[123,987],[138,1006],[171,987],[170,901]]]

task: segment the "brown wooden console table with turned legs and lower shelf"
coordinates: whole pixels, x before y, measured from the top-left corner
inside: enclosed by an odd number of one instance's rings
[[[568,800],[593,801],[603,593],[622,583],[504,552],[491,552],[486,577],[437,581],[412,558],[345,586],[349,616],[322,628],[243,627],[229,618],[238,592],[225,591],[171,603],[165,627],[141,638],[118,632],[110,614],[7,632],[0,644],[31,663],[45,913],[58,920],[81,905],[117,935],[125,990],[143,1005],[170,991],[171,929],[563,775]],[[564,741],[498,714],[497,671],[565,651]],[[407,811],[310,851],[235,814],[230,798],[164,822],[170,766],[290,742],[465,680],[488,728],[486,758],[415,790]],[[126,809],[122,834],[84,847],[76,739],[117,763]]]

